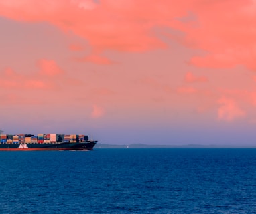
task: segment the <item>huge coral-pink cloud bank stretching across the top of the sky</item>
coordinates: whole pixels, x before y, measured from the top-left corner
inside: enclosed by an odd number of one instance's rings
[[[195,66],[256,70],[256,2],[253,0],[0,0],[0,15],[17,21],[48,22],[82,37],[93,53],[166,48],[164,29],[186,47],[200,49]],[[216,15],[217,14],[217,15]],[[90,62],[103,62],[91,57]],[[105,64],[106,62],[103,62]]]

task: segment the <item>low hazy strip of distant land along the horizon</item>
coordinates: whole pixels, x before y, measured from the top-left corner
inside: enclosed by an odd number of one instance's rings
[[[147,144],[129,144],[129,145],[114,145],[97,143],[94,148],[256,148],[255,146],[241,146],[241,145],[147,145]]]

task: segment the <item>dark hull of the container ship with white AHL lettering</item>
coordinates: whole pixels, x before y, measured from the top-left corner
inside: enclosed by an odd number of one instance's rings
[[[50,144],[0,144],[0,151],[93,150],[97,141]]]

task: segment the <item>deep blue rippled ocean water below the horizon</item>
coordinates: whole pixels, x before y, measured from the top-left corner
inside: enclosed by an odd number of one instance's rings
[[[0,152],[0,213],[256,213],[256,149]]]

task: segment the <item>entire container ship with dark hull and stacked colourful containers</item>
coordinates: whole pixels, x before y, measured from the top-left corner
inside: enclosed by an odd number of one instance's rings
[[[96,140],[83,134],[3,134],[0,151],[93,150]]]

